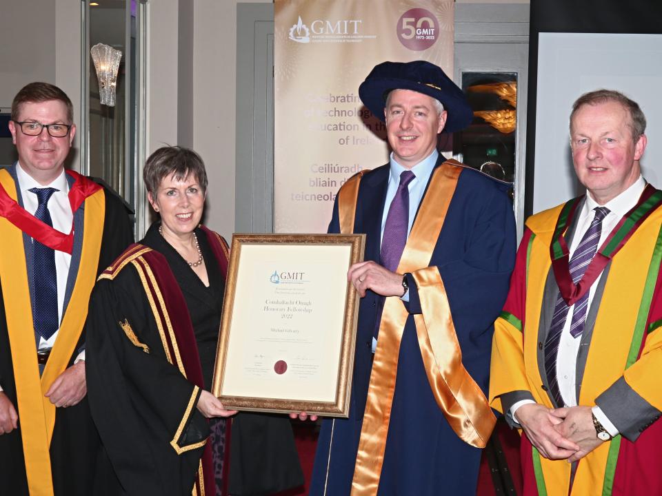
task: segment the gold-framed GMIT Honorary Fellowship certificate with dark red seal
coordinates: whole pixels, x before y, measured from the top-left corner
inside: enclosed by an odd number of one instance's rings
[[[235,234],[212,393],[227,409],[347,417],[363,234]]]

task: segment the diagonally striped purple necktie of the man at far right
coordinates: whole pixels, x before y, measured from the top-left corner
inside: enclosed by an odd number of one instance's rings
[[[574,254],[572,254],[572,258],[568,264],[570,277],[574,284],[581,280],[591,260],[593,260],[602,232],[602,220],[609,214],[609,209],[605,207],[596,207],[594,211],[595,216],[593,221],[583,238],[581,238],[579,246],[574,250]],[[573,338],[579,338],[584,330],[589,293],[590,289],[574,304],[572,320],[570,321],[570,334]],[[552,396],[559,406],[563,406],[563,397],[561,397],[561,391],[559,391],[559,382],[556,380],[556,355],[559,353],[561,332],[563,331],[563,327],[565,327],[565,320],[568,318],[569,310],[570,307],[568,307],[561,293],[559,293],[559,296],[556,297],[550,331],[547,335],[547,340],[545,340],[545,373],[547,373],[547,380],[550,383]]]

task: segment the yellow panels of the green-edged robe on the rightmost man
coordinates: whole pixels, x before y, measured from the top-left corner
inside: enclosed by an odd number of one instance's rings
[[[536,402],[548,408],[553,408],[553,405],[548,392],[541,387],[543,380],[539,373],[536,342],[545,280],[551,266],[549,247],[561,207],[563,205],[541,212],[527,221],[536,238],[532,244],[527,275],[524,362],[529,391]],[[628,384],[636,387],[636,391],[646,400],[656,408],[662,407],[662,403],[655,401],[660,397],[655,393],[659,391],[656,375],[648,371],[647,377],[639,381],[630,378],[626,370],[626,360],[637,321],[643,318],[645,322],[648,316],[650,302],[642,304],[642,295],[645,292],[661,225],[662,209],[658,209],[643,222],[612,260],[586,359],[578,401],[580,405],[593,406],[597,396],[625,375],[625,378],[629,379]],[[627,291],[623,291],[623,288],[627,288]],[[651,344],[646,343],[646,348],[659,347],[659,342],[655,342],[655,339],[651,341]],[[601,444],[579,462],[571,495],[603,494],[610,448],[619,440],[618,437]],[[567,496],[570,488],[570,464],[565,460],[550,460],[544,457],[539,457],[539,460],[546,494]]]

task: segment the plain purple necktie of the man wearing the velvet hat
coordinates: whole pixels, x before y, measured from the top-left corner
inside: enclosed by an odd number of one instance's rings
[[[409,183],[415,178],[410,170],[400,174],[400,184],[388,208],[384,233],[381,237],[381,265],[395,272],[407,244],[409,231]]]

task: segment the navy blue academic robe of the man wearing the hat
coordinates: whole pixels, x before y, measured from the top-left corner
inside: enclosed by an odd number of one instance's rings
[[[437,167],[443,162],[440,156]],[[354,233],[367,234],[365,260],[379,263],[381,219],[389,166],[361,178]],[[514,267],[516,236],[508,185],[468,167],[459,176],[430,266],[437,266],[452,312],[462,362],[488,393],[493,322]],[[414,222],[424,222],[417,217]],[[329,226],[339,232],[338,205]],[[457,437],[434,400],[423,368],[414,314],[421,313],[409,277],[410,316],[400,347],[379,495],[475,495],[481,450]],[[350,417],[325,420],[310,495],[349,495],[372,369],[372,333],[381,296],[361,299]]]

